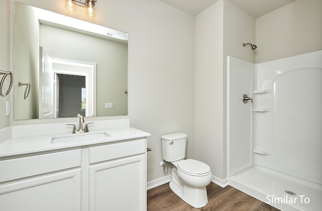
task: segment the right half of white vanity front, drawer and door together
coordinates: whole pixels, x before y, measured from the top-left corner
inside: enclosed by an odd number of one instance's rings
[[[146,139],[89,149],[89,207],[146,210]]]

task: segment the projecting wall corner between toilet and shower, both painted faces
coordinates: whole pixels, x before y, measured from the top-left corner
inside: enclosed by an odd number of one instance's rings
[[[255,19],[228,0],[196,17],[195,158],[211,167],[221,185],[227,177],[227,56],[254,62],[245,42],[255,42]]]

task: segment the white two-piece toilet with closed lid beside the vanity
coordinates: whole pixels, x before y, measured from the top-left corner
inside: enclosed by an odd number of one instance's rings
[[[162,156],[173,164],[170,188],[191,206],[200,208],[208,203],[206,186],[210,184],[210,167],[186,157],[187,134],[178,132],[162,135]]]

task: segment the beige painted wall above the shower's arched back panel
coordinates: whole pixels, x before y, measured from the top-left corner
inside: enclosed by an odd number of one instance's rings
[[[322,1],[297,0],[256,19],[256,63],[322,49]]]

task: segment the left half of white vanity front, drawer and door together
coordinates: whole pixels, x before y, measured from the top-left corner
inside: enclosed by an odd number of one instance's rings
[[[0,172],[0,210],[81,210],[80,149],[9,157]]]

